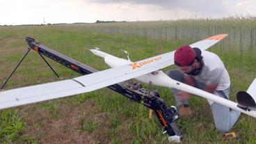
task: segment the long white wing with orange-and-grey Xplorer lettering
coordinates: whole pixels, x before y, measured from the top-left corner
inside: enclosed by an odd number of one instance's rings
[[[171,64],[173,51],[75,79],[6,90],[0,93],[0,109],[86,93],[154,72]]]

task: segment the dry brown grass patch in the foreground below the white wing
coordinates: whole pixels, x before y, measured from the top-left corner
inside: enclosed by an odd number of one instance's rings
[[[92,100],[88,99],[80,106],[61,104],[58,106],[58,115],[61,118],[52,118],[45,109],[38,109],[36,104],[23,106],[21,115],[26,120],[29,129],[25,134],[33,136],[40,143],[111,143],[106,134],[111,129],[108,113],[100,112]],[[96,114],[95,114],[96,113]],[[99,122],[99,128],[91,133],[81,132],[81,119],[91,119]]]

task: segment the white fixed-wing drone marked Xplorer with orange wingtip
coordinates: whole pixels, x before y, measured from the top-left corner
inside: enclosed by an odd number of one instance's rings
[[[195,42],[190,45],[190,47],[198,47],[201,51],[205,51],[207,48],[226,37],[227,34],[214,35],[200,40],[199,42]],[[126,60],[106,54],[99,49],[90,49],[90,51],[104,58],[106,64],[112,68],[74,79],[1,91],[0,109],[87,93],[129,79],[137,79],[138,81],[150,83],[154,86],[176,88],[193,95],[198,95],[256,118],[256,79],[250,85],[247,92],[238,93],[237,103],[207,93],[204,90],[189,86],[185,83],[175,81],[162,72],[161,69],[174,64],[175,51],[170,51],[166,54],[153,56],[137,62],[131,62],[129,58]]]

